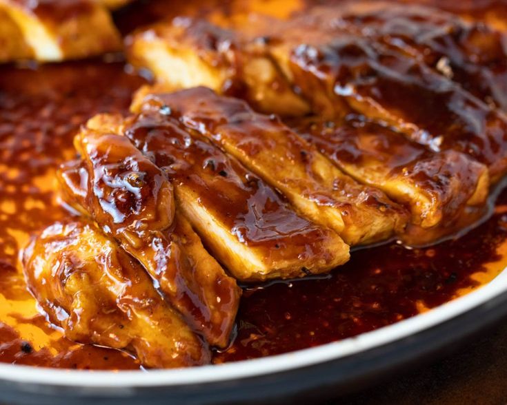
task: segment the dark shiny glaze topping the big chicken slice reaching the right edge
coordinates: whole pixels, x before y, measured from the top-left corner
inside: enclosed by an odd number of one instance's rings
[[[506,118],[414,59],[346,36],[299,45],[291,57],[298,85],[308,95],[327,94],[319,103],[328,112],[343,114],[332,101],[345,102],[434,151],[473,156],[494,180],[506,171]],[[316,81],[321,90],[310,87]]]

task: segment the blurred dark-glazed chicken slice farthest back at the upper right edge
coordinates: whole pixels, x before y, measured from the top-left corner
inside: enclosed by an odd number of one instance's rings
[[[507,37],[424,6],[355,1],[314,8],[320,29],[350,32],[414,57],[486,103],[507,110]]]

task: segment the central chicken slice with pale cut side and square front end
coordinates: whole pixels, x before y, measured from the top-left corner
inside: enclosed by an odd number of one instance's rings
[[[301,218],[241,164],[164,109],[128,121],[125,134],[175,185],[179,209],[240,280],[322,273],[348,260],[337,233]]]

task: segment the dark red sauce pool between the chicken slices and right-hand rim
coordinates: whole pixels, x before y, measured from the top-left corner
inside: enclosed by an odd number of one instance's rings
[[[507,193],[499,198],[507,203]],[[479,286],[470,274],[500,260],[507,216],[436,247],[408,250],[386,245],[352,252],[350,262],[318,280],[278,282],[247,289],[238,335],[218,362],[243,360],[318,346],[410,318],[459,289]]]

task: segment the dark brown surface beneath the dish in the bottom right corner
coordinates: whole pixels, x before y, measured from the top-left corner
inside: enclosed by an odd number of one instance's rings
[[[425,366],[322,405],[507,404],[507,319]]]

